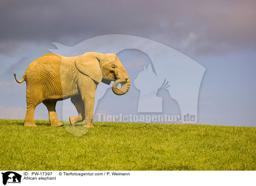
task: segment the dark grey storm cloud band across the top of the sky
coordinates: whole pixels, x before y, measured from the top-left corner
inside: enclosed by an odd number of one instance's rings
[[[254,0],[4,0],[0,7],[1,52],[6,42],[74,45],[105,34],[137,35],[200,54],[256,42]]]

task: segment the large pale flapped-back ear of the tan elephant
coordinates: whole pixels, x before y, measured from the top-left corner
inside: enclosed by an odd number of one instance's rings
[[[76,68],[83,74],[89,76],[98,83],[102,81],[102,71],[99,67],[99,60],[95,55],[87,52],[76,60]]]

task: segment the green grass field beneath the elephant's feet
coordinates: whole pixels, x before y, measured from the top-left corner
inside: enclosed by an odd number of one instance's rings
[[[0,119],[1,170],[256,170],[252,127],[95,122],[77,137],[68,122],[23,122]]]

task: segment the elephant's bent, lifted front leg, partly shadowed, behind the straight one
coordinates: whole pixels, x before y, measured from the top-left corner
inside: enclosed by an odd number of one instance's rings
[[[84,102],[80,95],[71,97],[71,102],[75,105],[79,115],[70,116],[70,124],[76,125],[76,123],[84,121]]]

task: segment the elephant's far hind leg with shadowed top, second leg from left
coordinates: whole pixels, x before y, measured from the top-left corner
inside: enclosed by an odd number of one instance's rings
[[[55,110],[55,106],[57,101],[43,101],[44,105],[47,107],[48,113],[49,113],[49,122],[51,126],[61,126],[63,125],[62,122],[58,120],[57,113]]]

